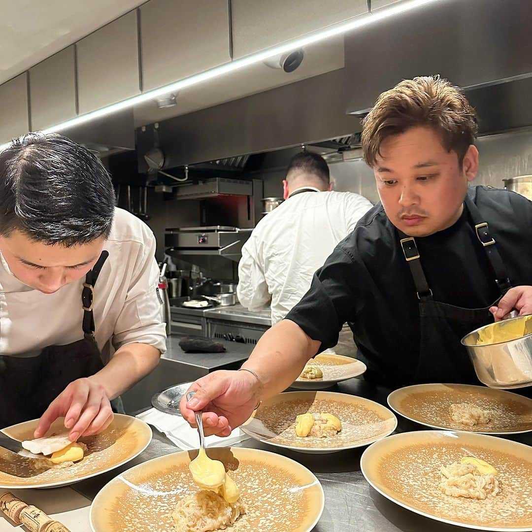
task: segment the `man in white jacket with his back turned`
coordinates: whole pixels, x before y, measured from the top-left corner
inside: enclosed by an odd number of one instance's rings
[[[283,186],[286,201],[257,223],[238,264],[239,302],[252,311],[270,305],[272,325],[300,302],[314,272],[372,207],[360,194],[332,192],[327,162],[312,152],[292,158]],[[355,356],[346,325],[333,350]]]

